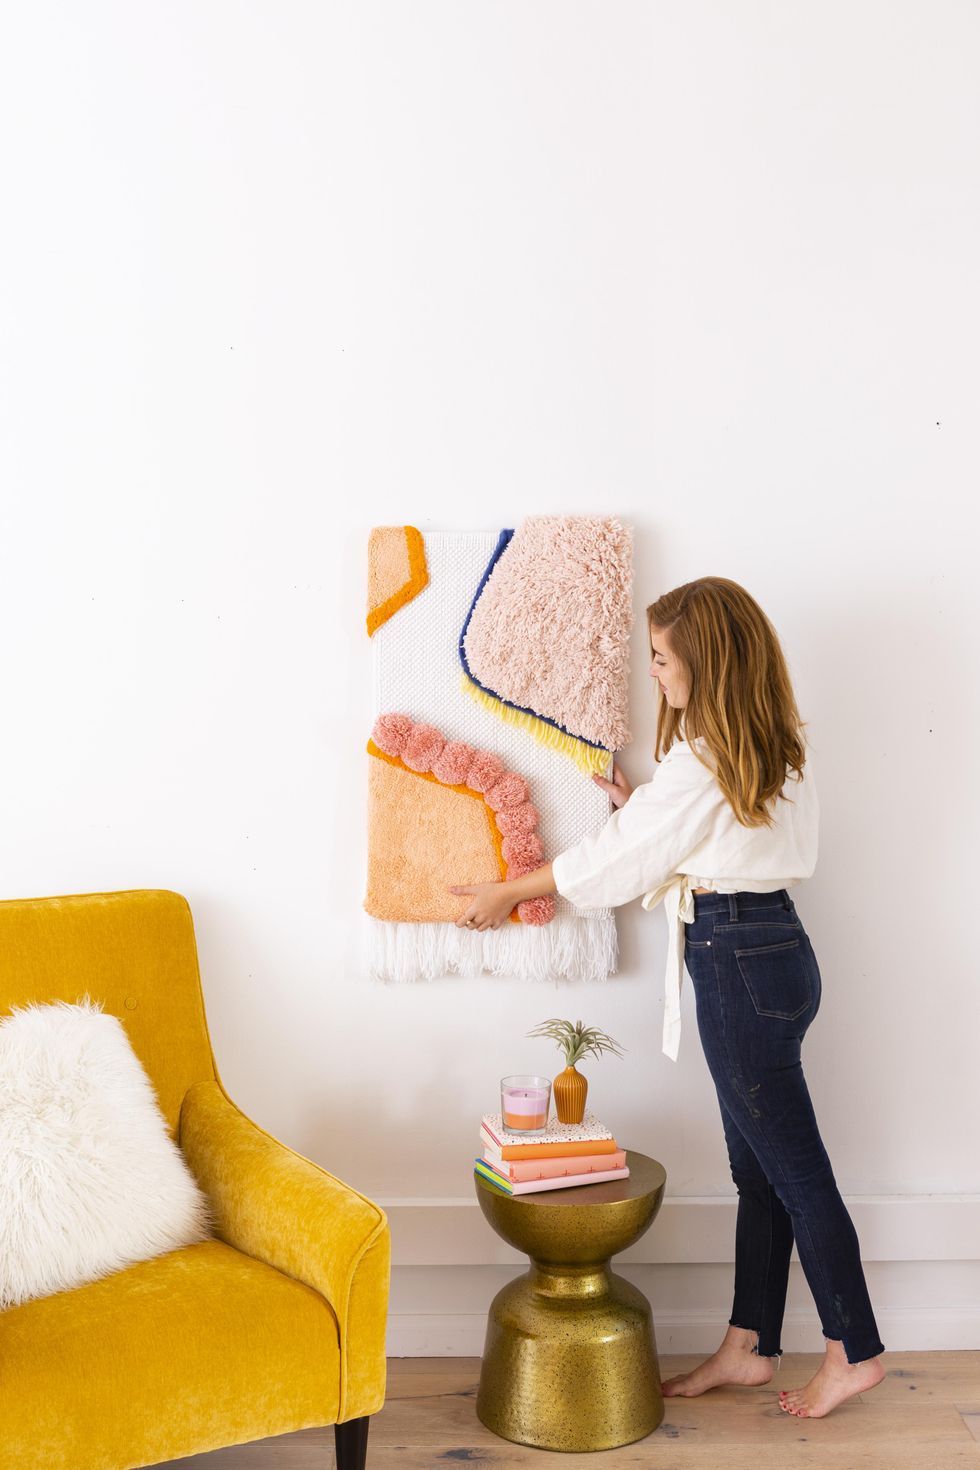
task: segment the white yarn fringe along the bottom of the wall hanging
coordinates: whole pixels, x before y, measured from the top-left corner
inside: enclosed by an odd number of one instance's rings
[[[522,980],[605,980],[619,958],[611,910],[551,923],[457,929],[451,923],[367,922],[367,972],[376,980],[435,980],[445,975],[507,975]]]

